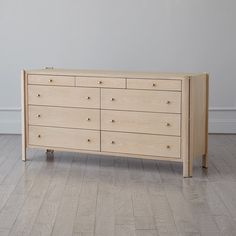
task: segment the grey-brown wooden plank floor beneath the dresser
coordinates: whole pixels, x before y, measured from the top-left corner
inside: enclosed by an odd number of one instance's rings
[[[209,169],[30,150],[0,135],[0,236],[236,235],[236,136],[210,135]]]

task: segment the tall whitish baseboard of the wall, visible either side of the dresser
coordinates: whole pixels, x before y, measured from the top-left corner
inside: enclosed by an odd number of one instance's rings
[[[21,133],[21,109],[0,108],[0,134]],[[236,134],[236,108],[210,108],[209,133]]]

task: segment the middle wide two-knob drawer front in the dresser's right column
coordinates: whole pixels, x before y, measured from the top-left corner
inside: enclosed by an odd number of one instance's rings
[[[180,114],[102,110],[101,129],[180,136]]]

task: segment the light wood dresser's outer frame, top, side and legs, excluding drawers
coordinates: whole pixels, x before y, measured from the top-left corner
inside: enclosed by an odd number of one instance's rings
[[[181,81],[181,148],[180,158],[165,156],[150,156],[114,152],[68,149],[63,147],[35,146],[29,144],[29,110],[28,110],[28,76],[55,75],[73,77],[101,77],[152,80],[180,80]],[[179,162],[183,165],[183,176],[192,176],[194,159],[202,159],[202,167],[208,168],[208,96],[209,75],[202,74],[168,74],[168,73],[139,73],[139,72],[111,72],[111,71],[83,71],[83,70],[22,70],[22,160],[26,161],[27,148],[42,148],[48,152],[53,150],[91,153],[98,155],[122,156],[131,158],[154,159]],[[100,88],[101,92],[101,88]],[[100,108],[101,109],[101,108]]]

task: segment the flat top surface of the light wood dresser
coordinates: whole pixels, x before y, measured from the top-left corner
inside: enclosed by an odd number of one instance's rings
[[[64,75],[64,76],[91,76],[112,78],[143,78],[143,79],[188,79],[206,73],[157,73],[157,72],[131,72],[131,71],[105,71],[105,70],[70,70],[70,69],[40,69],[26,70],[27,74],[38,75]]]

